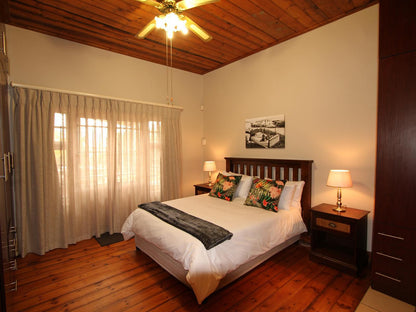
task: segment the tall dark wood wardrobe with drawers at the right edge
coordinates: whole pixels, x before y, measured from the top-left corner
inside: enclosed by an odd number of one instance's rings
[[[372,287],[416,304],[416,1],[380,0]]]

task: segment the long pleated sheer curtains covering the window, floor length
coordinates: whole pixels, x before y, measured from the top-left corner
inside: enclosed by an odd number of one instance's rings
[[[119,232],[138,204],[180,197],[180,110],[13,87],[20,253]]]

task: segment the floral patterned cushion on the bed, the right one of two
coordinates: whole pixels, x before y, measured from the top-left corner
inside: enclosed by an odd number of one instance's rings
[[[250,193],[248,194],[245,205],[264,208],[278,212],[278,203],[280,194],[282,194],[283,187],[286,181],[266,180],[255,178],[251,185]]]

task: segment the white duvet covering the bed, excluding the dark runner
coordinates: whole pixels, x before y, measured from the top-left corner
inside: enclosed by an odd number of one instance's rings
[[[164,203],[233,233],[230,240],[206,250],[197,238],[143,209],[136,209],[125,221],[125,240],[140,236],[183,265],[198,303],[215,291],[227,273],[306,231],[297,209],[275,213],[245,206],[243,198],[227,202],[205,194]]]

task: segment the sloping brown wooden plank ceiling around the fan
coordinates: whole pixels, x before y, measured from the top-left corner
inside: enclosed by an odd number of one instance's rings
[[[134,37],[160,12],[136,0],[0,0],[6,24],[166,64],[163,30]],[[221,0],[184,14],[213,39],[175,33],[173,67],[205,74],[378,3],[378,0]]]

